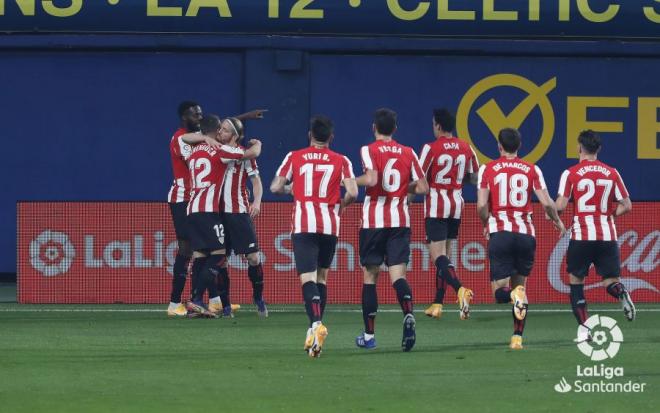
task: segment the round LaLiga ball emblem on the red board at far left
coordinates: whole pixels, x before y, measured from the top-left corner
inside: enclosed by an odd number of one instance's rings
[[[46,230],[30,242],[30,264],[46,277],[69,271],[75,256],[76,251],[63,232]]]

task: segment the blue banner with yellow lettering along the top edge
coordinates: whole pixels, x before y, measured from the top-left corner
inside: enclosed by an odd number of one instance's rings
[[[658,38],[658,0],[0,0],[2,32]]]

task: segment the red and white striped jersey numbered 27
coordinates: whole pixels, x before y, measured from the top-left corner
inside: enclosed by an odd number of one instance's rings
[[[573,197],[572,239],[617,240],[614,211],[617,201],[629,195],[616,169],[597,160],[580,161],[561,175],[559,195],[568,199]]]

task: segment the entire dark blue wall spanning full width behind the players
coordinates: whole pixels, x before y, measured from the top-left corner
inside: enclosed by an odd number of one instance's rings
[[[302,53],[299,61],[276,62],[275,56],[3,52],[0,248],[16,248],[18,200],[164,202],[172,179],[168,144],[184,99],[221,116],[269,109],[247,125],[248,137],[264,142],[259,166],[266,188],[285,154],[307,144],[311,114],[335,121],[332,147],[351,158],[357,173],[376,108],[396,110],[397,139],[419,150],[433,139],[432,109],[448,107],[457,112],[458,135],[482,162],[497,156],[499,128],[520,128],[521,154],[538,162],[551,193],[576,162],[579,131],[600,131],[601,159],[620,170],[633,201],[660,200],[660,59]],[[474,200],[472,187],[465,197]],[[269,191],[264,199],[287,200]],[[0,272],[15,264],[14,254],[3,254]]]

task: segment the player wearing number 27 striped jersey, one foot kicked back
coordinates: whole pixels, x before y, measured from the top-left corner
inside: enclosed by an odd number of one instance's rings
[[[571,306],[578,324],[587,318],[584,278],[593,264],[603,277],[603,287],[619,300],[629,321],[635,319],[635,305],[621,283],[621,254],[617,243],[614,217],[632,210],[628,190],[619,172],[598,160],[600,136],[586,130],[578,136],[580,162],[564,171],[559,182],[557,210],[563,211],[573,198],[575,215],[571,240],[566,253],[566,267],[571,286]],[[578,340],[589,337],[578,337]]]

